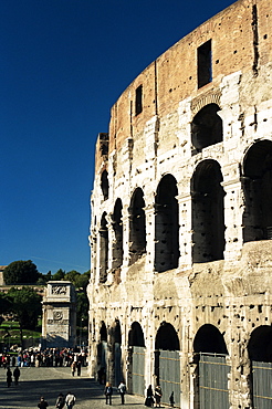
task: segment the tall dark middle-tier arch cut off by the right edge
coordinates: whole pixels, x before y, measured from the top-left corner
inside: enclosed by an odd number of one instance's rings
[[[272,141],[260,140],[243,160],[243,241],[272,239]]]

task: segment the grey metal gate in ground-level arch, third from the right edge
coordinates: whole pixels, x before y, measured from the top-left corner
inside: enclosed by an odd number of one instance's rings
[[[175,407],[180,407],[180,358],[179,350],[155,352],[155,375],[163,391],[161,402],[169,405],[172,395]]]

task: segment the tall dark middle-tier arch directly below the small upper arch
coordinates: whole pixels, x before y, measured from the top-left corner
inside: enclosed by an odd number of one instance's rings
[[[220,165],[200,162],[191,179],[192,262],[222,260],[224,251],[224,191]]]

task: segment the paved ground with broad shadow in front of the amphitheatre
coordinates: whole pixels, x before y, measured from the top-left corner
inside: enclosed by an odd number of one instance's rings
[[[32,409],[36,408],[41,396],[49,402],[49,409],[55,407],[60,392],[70,390],[76,397],[75,409],[106,409],[103,387],[87,377],[83,368],[81,377],[72,377],[70,368],[21,368],[18,386],[7,387],[6,369],[0,368],[0,408],[1,409]],[[13,371],[13,368],[12,368]],[[126,409],[145,408],[144,398],[130,395],[125,396],[125,406],[121,405],[117,392],[113,396],[113,407]]]

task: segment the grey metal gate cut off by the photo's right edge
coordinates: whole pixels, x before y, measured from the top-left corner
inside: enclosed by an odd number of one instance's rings
[[[272,408],[272,364],[252,361],[253,407],[255,409]]]

